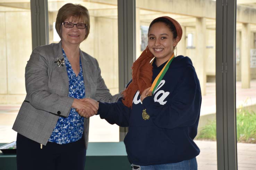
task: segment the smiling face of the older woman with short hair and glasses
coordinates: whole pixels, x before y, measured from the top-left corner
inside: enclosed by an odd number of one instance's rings
[[[72,17],[66,19],[64,22],[72,23],[84,23],[84,21],[79,19],[73,19]],[[65,28],[64,25],[61,25],[61,41],[62,44],[67,45],[80,45],[84,40],[86,35],[86,29],[78,29],[76,25],[73,28]]]

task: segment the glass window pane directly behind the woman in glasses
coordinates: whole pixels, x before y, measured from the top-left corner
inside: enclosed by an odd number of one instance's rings
[[[90,15],[90,33],[80,44],[80,49],[96,58],[101,68],[101,76],[111,94],[119,92],[118,87],[118,23],[117,0],[59,1],[48,0],[49,42],[58,43],[54,22],[59,8],[66,3],[85,6]],[[86,94],[85,94],[86,95]],[[89,142],[118,142],[119,126],[111,125],[100,116],[90,118]]]

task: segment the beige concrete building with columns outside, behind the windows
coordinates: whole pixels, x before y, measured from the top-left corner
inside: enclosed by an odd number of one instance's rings
[[[54,22],[58,9],[68,1],[48,3],[49,43],[58,42]],[[98,59],[102,75],[112,93],[118,92],[118,23],[117,1],[78,1],[89,9],[91,32],[81,49]],[[168,5],[166,5],[168,4]],[[186,5],[184,5],[186,4]],[[189,56],[196,68],[202,94],[206,82],[215,81],[215,16],[213,0],[150,0],[136,1],[136,57],[141,53],[144,28],[159,16],[170,16],[181,23],[184,36],[177,55]],[[0,2],[3,18],[0,30],[0,103],[19,104],[25,92],[24,68],[31,54],[30,4],[18,1]],[[243,88],[256,79],[256,66],[250,67],[251,52],[256,49],[256,9],[239,4],[237,7],[237,81]],[[111,23],[111,24],[110,24]],[[57,36],[53,37],[53,36]],[[145,31],[144,31],[145,36]]]

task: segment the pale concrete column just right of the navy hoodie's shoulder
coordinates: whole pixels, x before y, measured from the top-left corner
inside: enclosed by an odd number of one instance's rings
[[[196,56],[193,65],[200,81],[202,95],[206,94],[206,19],[196,18]]]

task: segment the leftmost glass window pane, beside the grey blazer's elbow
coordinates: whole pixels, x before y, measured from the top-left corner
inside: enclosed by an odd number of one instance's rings
[[[32,50],[29,0],[0,3],[0,143],[16,141],[12,125],[25,99],[25,66]]]

